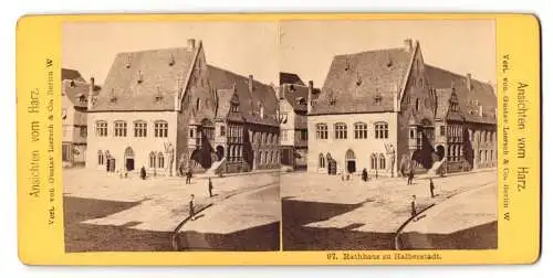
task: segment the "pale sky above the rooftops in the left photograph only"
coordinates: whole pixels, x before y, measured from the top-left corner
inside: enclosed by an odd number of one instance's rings
[[[196,39],[208,64],[278,84],[278,28],[274,22],[66,23],[62,66],[103,84],[117,53],[186,47],[188,39]]]

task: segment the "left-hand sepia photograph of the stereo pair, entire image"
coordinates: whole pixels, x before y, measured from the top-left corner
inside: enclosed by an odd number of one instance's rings
[[[278,22],[65,23],[65,252],[280,250]]]

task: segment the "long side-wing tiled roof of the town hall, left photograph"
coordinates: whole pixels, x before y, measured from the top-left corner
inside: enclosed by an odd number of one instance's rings
[[[248,122],[272,126],[279,125],[276,121],[278,101],[274,89],[271,86],[253,81],[253,94],[250,94],[249,77],[212,65],[208,65],[208,70],[211,86],[218,92],[231,94],[232,90],[229,89],[236,86],[240,100],[240,111]],[[263,104],[263,118],[259,115],[258,104]],[[219,105],[221,106],[225,104]]]

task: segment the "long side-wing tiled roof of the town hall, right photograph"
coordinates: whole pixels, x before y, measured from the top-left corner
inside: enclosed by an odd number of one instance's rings
[[[468,89],[467,76],[451,73],[449,71],[426,65],[425,72],[430,85],[436,88],[438,97],[437,117],[445,115],[449,107],[449,96],[453,86],[459,99],[459,109],[462,117],[472,122],[495,124],[495,108],[498,98],[491,84],[471,78],[471,88]],[[479,106],[482,106],[483,116],[479,115]]]

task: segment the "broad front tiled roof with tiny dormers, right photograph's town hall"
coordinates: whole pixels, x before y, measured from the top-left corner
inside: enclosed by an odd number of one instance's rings
[[[311,114],[392,111],[411,55],[405,49],[388,49],[334,56]]]

